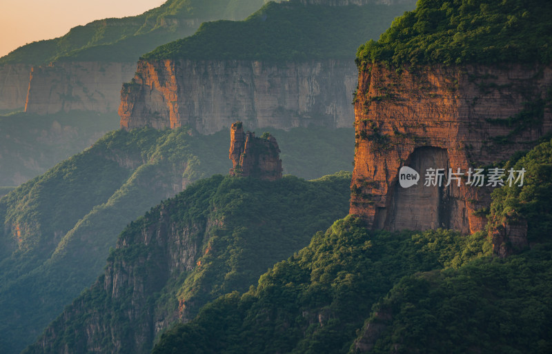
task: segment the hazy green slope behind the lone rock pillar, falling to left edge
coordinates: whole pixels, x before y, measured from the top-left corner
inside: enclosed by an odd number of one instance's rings
[[[272,134],[286,173],[352,168],[352,129]],[[96,279],[128,222],[192,181],[228,173],[229,141],[228,131],[117,130],[2,197],[0,347],[17,353],[32,342]]]

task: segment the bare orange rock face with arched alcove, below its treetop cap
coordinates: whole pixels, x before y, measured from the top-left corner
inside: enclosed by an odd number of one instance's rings
[[[486,219],[474,211],[489,206],[491,187],[466,186],[465,178],[445,187],[448,169],[508,159],[552,132],[542,100],[551,86],[549,67],[360,70],[350,213],[371,228],[482,230]],[[399,186],[402,166],[420,173],[417,186]],[[426,168],[445,168],[442,187],[424,186]]]

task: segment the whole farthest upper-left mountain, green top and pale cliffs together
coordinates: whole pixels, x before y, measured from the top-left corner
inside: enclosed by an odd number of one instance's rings
[[[132,78],[141,54],[192,35],[204,21],[244,19],[263,3],[168,0],[135,17],[92,21],[17,48],[0,58],[0,110],[116,111],[121,83]]]

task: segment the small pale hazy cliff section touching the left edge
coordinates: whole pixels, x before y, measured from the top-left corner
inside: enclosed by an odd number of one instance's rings
[[[0,66],[0,110],[16,110],[25,106],[30,69],[27,64]]]

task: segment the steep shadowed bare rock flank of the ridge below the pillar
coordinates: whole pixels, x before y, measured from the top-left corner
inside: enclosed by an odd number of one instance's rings
[[[26,353],[146,353],[155,335],[177,319],[177,311],[152,306],[151,299],[162,290],[173,274],[184,274],[195,267],[201,250],[199,233],[205,222],[179,226],[174,219],[175,205],[156,208],[137,232],[127,232],[117,241],[117,249],[128,249],[110,256],[104,274],[88,293],[78,297],[43,333],[42,339]],[[91,299],[99,299],[90,306]],[[97,300],[98,301],[98,300]],[[149,302],[148,302],[149,301]],[[117,304],[124,311],[116,311]],[[172,308],[171,308],[172,310]],[[110,314],[106,316],[106,314]],[[70,324],[86,318],[73,333]],[[122,328],[132,324],[132,329]],[[68,334],[72,341],[58,346],[57,337]]]

